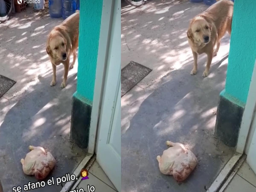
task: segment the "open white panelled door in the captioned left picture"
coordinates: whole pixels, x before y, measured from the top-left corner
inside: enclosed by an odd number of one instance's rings
[[[96,155],[121,191],[121,0],[114,0],[113,6]]]

